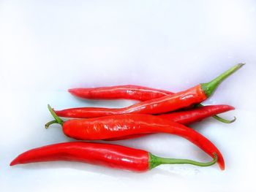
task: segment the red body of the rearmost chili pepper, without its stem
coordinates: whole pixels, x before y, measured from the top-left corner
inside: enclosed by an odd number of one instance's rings
[[[134,99],[147,101],[173,94],[170,91],[147,88],[138,85],[117,85],[100,88],[71,88],[68,90],[74,96],[83,99]]]

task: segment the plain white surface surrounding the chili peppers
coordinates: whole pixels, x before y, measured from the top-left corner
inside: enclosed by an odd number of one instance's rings
[[[1,191],[255,191],[255,1],[0,1]],[[193,125],[225,157],[200,168],[159,166],[135,174],[88,164],[54,162],[10,167],[25,150],[71,139],[47,104],[122,107],[132,101],[82,101],[79,86],[137,84],[180,91],[234,64],[207,104],[231,104]],[[170,135],[117,142],[156,155],[208,161],[197,147]]]

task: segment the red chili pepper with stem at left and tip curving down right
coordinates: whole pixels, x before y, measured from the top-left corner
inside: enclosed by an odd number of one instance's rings
[[[188,139],[208,153],[208,155],[211,155],[211,157],[214,157],[213,154],[217,153],[218,164],[221,169],[225,169],[224,159],[217,147],[206,139],[206,137],[197,133],[197,131],[179,123],[154,115],[143,114],[111,115],[101,118],[73,119],[64,122],[53,112],[49,105],[48,109],[55,120],[47,123],[45,128],[48,128],[50,124],[59,123],[67,137],[79,140],[102,140],[133,134],[175,134]]]

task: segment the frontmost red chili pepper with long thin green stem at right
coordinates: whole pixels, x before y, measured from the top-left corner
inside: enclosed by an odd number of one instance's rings
[[[145,150],[121,145],[91,142],[65,142],[28,150],[18,155],[10,166],[42,161],[80,161],[86,164],[108,166],[114,169],[126,169],[133,172],[146,172],[161,164],[192,164],[211,166],[217,162],[201,163],[189,159],[160,158]]]

